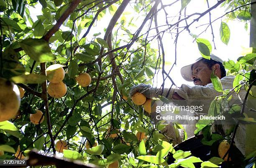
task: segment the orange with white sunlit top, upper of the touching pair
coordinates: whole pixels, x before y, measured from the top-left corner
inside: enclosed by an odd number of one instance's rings
[[[61,82],[64,79],[65,71],[60,64],[53,64],[53,65],[50,65],[48,68],[46,68],[46,75],[51,76],[49,77],[48,81],[56,84]]]

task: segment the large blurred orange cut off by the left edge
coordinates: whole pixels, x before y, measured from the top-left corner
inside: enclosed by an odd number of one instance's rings
[[[13,82],[0,78],[0,122],[13,118],[19,108],[19,88]]]

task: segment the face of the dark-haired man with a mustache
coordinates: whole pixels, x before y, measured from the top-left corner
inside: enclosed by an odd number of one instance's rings
[[[202,61],[198,61],[192,66],[192,79],[195,85],[205,86],[212,83],[211,73],[212,70]]]

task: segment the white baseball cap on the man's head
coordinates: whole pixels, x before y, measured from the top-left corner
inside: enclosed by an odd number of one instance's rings
[[[223,64],[223,60],[220,59],[218,56],[215,56],[213,54],[210,54],[210,58],[214,61],[218,61],[221,64]],[[203,57],[199,57],[198,59],[196,59],[192,64],[187,65],[182,67],[182,69],[180,69],[180,73],[182,74],[182,77],[186,80],[186,81],[193,81],[192,78],[192,65],[195,64],[196,62],[200,61],[201,59],[204,59]]]

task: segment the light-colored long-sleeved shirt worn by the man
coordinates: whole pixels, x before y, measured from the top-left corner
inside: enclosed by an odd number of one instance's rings
[[[222,79],[220,79],[223,90],[225,89],[233,89],[233,81],[235,79],[235,76],[225,76]],[[161,92],[161,91],[160,91]],[[167,93],[169,92],[168,96]],[[223,93],[218,92],[214,89],[213,84],[207,84],[206,86],[189,86],[186,84],[182,84],[181,87],[173,87],[170,90],[165,88],[163,91],[162,96],[167,97],[168,99],[175,102],[174,99],[172,99],[172,94],[177,93],[180,97],[184,98],[186,100],[187,105],[195,106],[195,105],[202,105],[204,104],[204,111],[202,113],[208,114],[208,109],[210,107],[210,103],[213,99],[215,99],[216,96],[220,96]],[[242,87],[239,95],[233,90],[230,92],[229,95],[232,94],[232,99],[230,101],[230,104],[232,102],[236,102],[238,99],[242,100],[244,99],[246,95],[246,90]],[[194,115],[198,115],[196,112],[190,113]],[[196,123],[196,122],[195,122]],[[231,125],[222,125],[223,130],[227,130],[231,127]],[[184,125],[185,130],[187,132],[188,137],[194,136],[194,131],[197,129],[194,125]],[[213,128],[214,130],[214,128]],[[244,125],[240,124],[238,127],[238,130],[236,132],[236,137],[234,139],[236,147],[245,154],[245,127]],[[177,139],[177,137],[174,137],[174,139]]]

